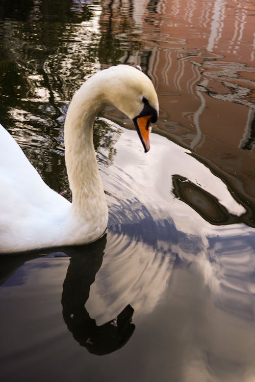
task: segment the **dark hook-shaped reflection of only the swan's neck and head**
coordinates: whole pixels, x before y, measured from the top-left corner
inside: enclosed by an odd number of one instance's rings
[[[134,309],[127,305],[118,316],[98,326],[90,318],[85,304],[91,284],[101,266],[106,247],[106,235],[84,247],[83,253],[71,255],[63,284],[63,318],[73,338],[93,354],[103,355],[121,348],[132,336]]]

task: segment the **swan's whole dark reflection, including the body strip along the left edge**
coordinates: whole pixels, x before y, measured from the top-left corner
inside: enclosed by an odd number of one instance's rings
[[[90,286],[103,261],[106,237],[105,234],[96,242],[79,247],[0,256],[0,285],[27,261],[40,257],[70,257],[61,298],[63,318],[73,338],[89,352],[98,355],[109,354],[124,346],[135,330],[132,323],[134,309],[130,305],[116,318],[100,326],[90,318],[85,308]]]

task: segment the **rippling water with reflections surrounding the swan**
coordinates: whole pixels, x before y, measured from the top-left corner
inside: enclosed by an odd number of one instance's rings
[[[96,120],[103,238],[0,258],[1,380],[255,381],[254,14],[1,3],[0,121],[67,198],[63,125],[83,81],[141,65],[160,101],[146,155],[116,110]]]

